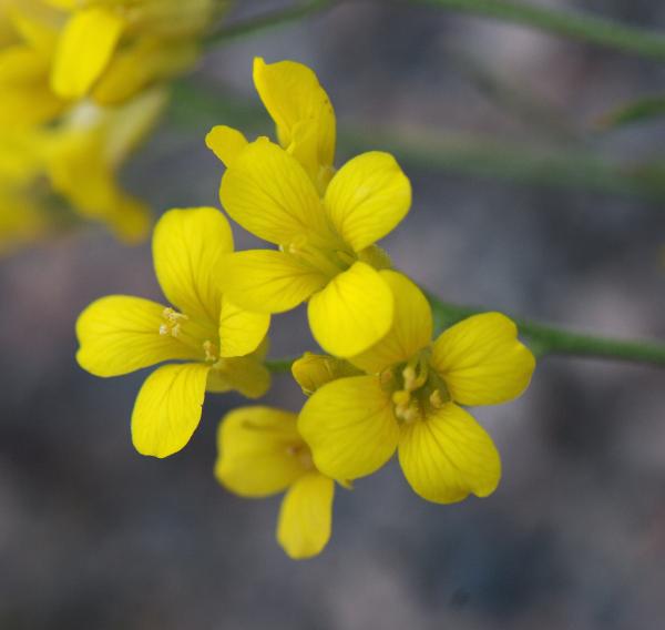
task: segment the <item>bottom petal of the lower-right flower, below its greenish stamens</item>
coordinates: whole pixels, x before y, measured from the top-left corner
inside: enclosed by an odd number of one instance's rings
[[[501,459],[490,436],[451,403],[424,420],[403,424],[399,463],[411,488],[428,501],[452,504],[491,495]]]

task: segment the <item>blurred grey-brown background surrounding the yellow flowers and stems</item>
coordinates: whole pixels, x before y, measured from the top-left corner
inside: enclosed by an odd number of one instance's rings
[[[280,6],[243,4],[234,16]],[[565,4],[665,29],[651,0]],[[125,169],[129,190],[157,212],[218,203],[209,126],[272,133],[255,55],[317,71],[342,130],[338,164],[395,152],[415,200],[385,245],[416,281],[452,302],[665,337],[665,197],[622,180],[665,156],[665,125],[598,131],[608,110],[665,87],[662,65],[350,2],[206,54]],[[149,244],[89,226],[0,262],[1,629],[662,627],[662,372],[542,360],[520,400],[477,413],[503,458],[493,496],[427,504],[392,463],[337,494],[328,548],[294,562],[274,538],[279,498],[237,498],[212,474],[218,420],[239,397],[207,397],[187,448],[144,458],[130,416],[145,374],[76,366],[75,318],[112,293],[160,298]],[[313,347],[304,322],[276,318],[274,356]],[[286,376],[266,398],[301,399]]]

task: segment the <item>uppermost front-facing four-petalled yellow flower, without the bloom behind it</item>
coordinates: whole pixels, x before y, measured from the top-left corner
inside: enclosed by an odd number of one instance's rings
[[[229,164],[219,190],[226,212],[279,251],[231,256],[223,286],[246,308],[282,313],[308,301],[311,332],[328,353],[348,357],[380,339],[393,298],[372,245],[407,214],[409,180],[395,159],[359,155],[320,200],[303,166],[263,138]]]

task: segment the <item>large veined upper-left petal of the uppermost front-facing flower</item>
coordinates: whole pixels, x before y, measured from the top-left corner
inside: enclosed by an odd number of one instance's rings
[[[314,184],[297,160],[265,138],[236,155],[222,177],[219,199],[252,234],[278,245],[326,231]]]

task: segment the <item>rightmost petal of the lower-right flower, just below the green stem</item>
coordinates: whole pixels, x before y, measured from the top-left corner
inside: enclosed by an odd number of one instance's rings
[[[501,313],[473,315],[434,342],[432,365],[462,405],[494,405],[526,389],[535,358],[518,341],[518,327]]]

